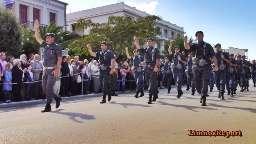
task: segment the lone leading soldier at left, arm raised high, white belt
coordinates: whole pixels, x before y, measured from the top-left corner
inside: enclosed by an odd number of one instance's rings
[[[43,50],[43,79],[42,88],[46,94],[46,106],[41,112],[50,112],[52,110],[50,103],[52,98],[56,100],[56,108],[59,108],[61,97],[57,96],[53,92],[53,86],[56,82],[57,74],[62,61],[62,49],[54,42],[55,34],[45,34],[45,40],[43,41],[39,34],[39,21],[35,20],[34,23],[36,41],[41,44],[45,49]]]

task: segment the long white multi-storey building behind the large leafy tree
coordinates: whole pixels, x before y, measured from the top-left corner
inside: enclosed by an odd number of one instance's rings
[[[124,2],[107,5],[104,7],[97,7],[94,9],[88,9],[84,11],[78,11],[74,13],[67,14],[67,30],[75,32],[77,34],[89,34],[89,29],[83,29],[78,31],[74,24],[77,20],[83,18],[85,20],[91,19],[93,23],[106,23],[109,16],[125,16],[131,18],[131,20],[137,20],[137,18],[150,16],[145,11],[140,11],[135,7],[130,7]],[[163,48],[164,42],[169,39],[174,39],[176,36],[182,36],[186,34],[183,27],[179,27],[165,20],[156,20],[155,27],[162,32],[161,35],[157,35],[159,43],[156,43],[155,47]]]

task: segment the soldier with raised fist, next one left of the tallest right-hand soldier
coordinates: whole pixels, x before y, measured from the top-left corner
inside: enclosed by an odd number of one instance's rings
[[[179,99],[183,94],[181,90],[181,87],[183,84],[183,72],[184,72],[183,67],[184,65],[187,64],[187,61],[186,61],[186,57],[183,54],[179,53],[180,51],[179,46],[173,47],[175,53],[174,54],[172,53],[172,43],[173,41],[171,40],[168,52],[172,57],[172,64],[171,64],[172,74],[173,74],[173,79],[175,81],[175,84],[177,85],[177,90],[178,90],[177,98]]]

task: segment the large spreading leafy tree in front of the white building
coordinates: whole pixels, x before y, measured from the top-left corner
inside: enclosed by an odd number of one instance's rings
[[[78,20],[75,27],[79,30],[91,28],[89,35],[84,39],[78,39],[69,45],[69,49],[76,49],[81,54],[84,50],[89,55],[86,46],[91,43],[93,51],[100,50],[99,43],[106,41],[109,43],[109,50],[116,54],[116,58],[122,52],[125,53],[125,47],[135,47],[133,45],[134,36],[141,39],[153,37],[161,34],[159,30],[154,28],[154,20],[160,20],[158,16],[146,16],[138,18],[136,21],[123,16],[109,16],[106,23],[93,23],[91,20]],[[145,41],[144,41],[145,43]],[[129,51],[132,52],[133,48]]]

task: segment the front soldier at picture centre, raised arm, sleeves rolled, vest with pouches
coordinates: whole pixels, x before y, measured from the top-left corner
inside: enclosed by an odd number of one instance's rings
[[[149,85],[149,99],[147,101],[148,104],[151,104],[152,101],[156,101],[158,98],[157,95],[157,72],[158,66],[160,63],[160,52],[157,48],[154,48],[154,39],[147,38],[147,48],[143,49],[140,47],[138,43],[138,38],[135,36],[134,41],[136,44],[136,48],[139,50],[140,54],[144,55],[145,61],[143,61],[142,65],[145,72],[145,81],[147,85]],[[153,97],[154,96],[154,97]],[[152,99],[153,97],[153,99]]]

